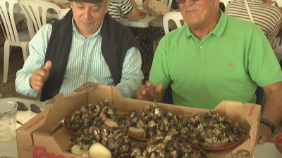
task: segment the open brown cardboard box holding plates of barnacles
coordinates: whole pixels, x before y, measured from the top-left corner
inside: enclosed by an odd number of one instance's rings
[[[109,100],[111,105],[117,106],[118,110],[123,112],[140,110],[146,105],[152,105],[152,102],[122,98],[114,86],[102,86],[93,83],[81,86],[65,98],[63,98],[62,93],[59,93],[53,99],[44,103],[45,105],[54,103],[53,107],[47,107],[46,110],[37,114],[36,117],[18,129],[18,157],[82,158],[82,156],[66,152],[71,145],[71,142],[68,141],[68,136],[71,136],[71,134],[63,128],[61,121],[74,110],[79,110],[82,105],[99,103],[106,99]],[[176,105],[159,104],[159,106],[173,114],[209,111]],[[232,117],[249,133],[249,136],[243,136],[240,145],[222,152],[213,152],[214,157],[240,157],[242,154],[255,157],[255,142],[261,112],[260,105],[223,101],[214,109],[214,112],[218,112],[221,117]]]

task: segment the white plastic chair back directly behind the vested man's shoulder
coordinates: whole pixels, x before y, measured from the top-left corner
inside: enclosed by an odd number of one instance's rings
[[[54,9],[57,15],[61,9],[56,4],[47,1],[20,0],[19,4],[21,8],[23,8],[23,12],[27,18],[27,27],[30,32],[30,38],[32,38],[43,25],[47,24],[47,15],[50,14],[47,13],[48,9]],[[56,18],[57,17],[58,16],[56,16]]]

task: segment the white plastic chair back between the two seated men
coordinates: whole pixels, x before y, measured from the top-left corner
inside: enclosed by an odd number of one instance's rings
[[[169,32],[169,25],[168,25],[169,20],[173,20],[174,22],[176,22],[176,27],[177,28],[182,27],[181,21],[183,21],[183,17],[182,17],[180,12],[166,13],[164,15],[164,18],[163,18],[163,21],[164,21],[164,32],[166,34],[168,34],[168,32]]]

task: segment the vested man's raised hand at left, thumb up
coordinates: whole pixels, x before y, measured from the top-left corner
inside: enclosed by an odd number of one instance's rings
[[[51,70],[51,67],[52,67],[52,62],[48,60],[45,63],[44,67],[42,67],[41,69],[37,69],[32,73],[32,76],[30,78],[30,86],[32,89],[37,91],[42,90],[44,86],[44,82],[49,77],[49,72]]]

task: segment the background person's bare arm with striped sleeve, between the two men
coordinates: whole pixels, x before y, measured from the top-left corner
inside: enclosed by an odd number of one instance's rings
[[[121,13],[130,21],[137,21],[140,18],[139,11],[135,0],[125,0],[119,2]]]

